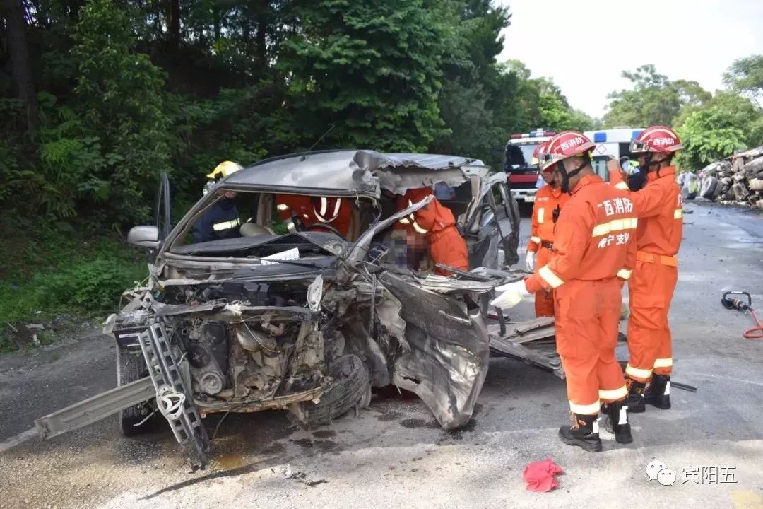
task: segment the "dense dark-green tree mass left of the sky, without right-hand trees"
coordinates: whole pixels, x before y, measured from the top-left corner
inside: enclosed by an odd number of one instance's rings
[[[160,171],[198,197],[224,159],[317,148],[461,153],[586,128],[548,79],[499,64],[492,0],[5,0],[0,199],[124,231]],[[7,37],[6,37],[7,36]]]

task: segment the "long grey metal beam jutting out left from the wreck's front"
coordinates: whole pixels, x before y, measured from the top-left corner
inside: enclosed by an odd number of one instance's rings
[[[150,400],[155,395],[153,383],[146,376],[40,417],[34,421],[34,426],[37,427],[40,438],[47,440]]]

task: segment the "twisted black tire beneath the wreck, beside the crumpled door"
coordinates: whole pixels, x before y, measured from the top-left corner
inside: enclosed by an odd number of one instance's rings
[[[311,428],[331,424],[332,420],[342,417],[358,404],[363,408],[371,403],[371,374],[358,356],[336,359],[329,374],[334,382],[320,401],[298,404]]]

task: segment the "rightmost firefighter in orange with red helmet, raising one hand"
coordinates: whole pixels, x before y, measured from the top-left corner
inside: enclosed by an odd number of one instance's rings
[[[646,403],[664,410],[670,408],[673,356],[668,310],[678,281],[675,255],[684,228],[681,188],[675,182],[671,160],[681,148],[675,131],[660,125],[643,130],[630,147],[631,153],[639,157],[642,172],[646,172],[646,185],[629,193],[639,214],[636,267],[628,282],[630,359],[626,376],[631,412],[645,411]],[[610,182],[627,189],[617,161],[610,161],[607,166]]]

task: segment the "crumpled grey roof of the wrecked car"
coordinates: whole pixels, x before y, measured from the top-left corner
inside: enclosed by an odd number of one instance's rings
[[[469,176],[486,176],[479,159],[375,150],[331,150],[265,159],[221,181],[230,188],[305,195],[367,195],[381,188],[403,194],[409,188],[445,182],[456,186]]]

